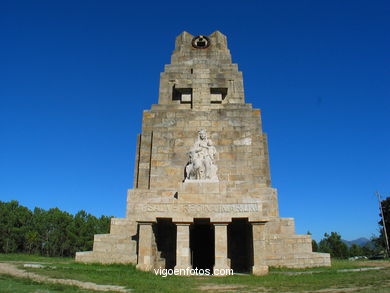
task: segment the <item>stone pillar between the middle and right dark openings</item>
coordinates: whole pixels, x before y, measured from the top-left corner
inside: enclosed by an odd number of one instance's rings
[[[230,269],[227,251],[228,223],[214,223],[215,231],[215,264],[214,269]]]

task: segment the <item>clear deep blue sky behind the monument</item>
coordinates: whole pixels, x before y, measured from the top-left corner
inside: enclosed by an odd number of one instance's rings
[[[125,215],[175,37],[220,30],[298,233],[378,230],[390,195],[388,1],[1,1],[0,200]]]

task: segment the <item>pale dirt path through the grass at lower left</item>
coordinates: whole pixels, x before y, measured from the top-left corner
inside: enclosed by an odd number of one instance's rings
[[[17,268],[15,264],[10,263],[0,263],[0,274],[11,275],[17,278],[28,278],[34,281],[42,283],[55,283],[55,284],[64,284],[69,286],[77,286],[82,289],[94,290],[94,291],[115,291],[115,292],[130,292],[130,289],[126,289],[123,286],[114,286],[114,285],[99,285],[92,282],[82,282],[78,280],[71,279],[53,279],[47,276],[38,275],[36,273],[30,273],[23,269]]]

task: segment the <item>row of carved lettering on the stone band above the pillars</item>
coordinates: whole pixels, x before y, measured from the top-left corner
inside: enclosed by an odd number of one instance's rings
[[[259,212],[257,203],[242,204],[138,204],[136,209],[141,212],[180,212],[180,213],[253,213]]]

